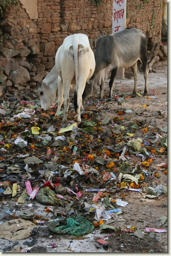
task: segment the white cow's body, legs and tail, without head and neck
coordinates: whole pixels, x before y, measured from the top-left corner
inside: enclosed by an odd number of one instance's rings
[[[67,122],[69,107],[69,90],[72,84],[76,85],[74,92],[74,109],[77,113],[77,122],[81,121],[80,109],[83,109],[82,94],[86,81],[91,78],[95,69],[94,53],[90,48],[88,36],[74,34],[66,37],[56,52],[56,70],[58,76],[58,113],[64,102],[64,116],[62,123]],[[64,97],[63,97],[64,95]]]

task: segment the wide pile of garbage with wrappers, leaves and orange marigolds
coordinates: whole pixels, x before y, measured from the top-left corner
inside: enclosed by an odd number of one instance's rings
[[[55,117],[55,103],[48,113],[41,112],[33,90],[20,97],[7,94],[1,100],[0,207],[8,200],[28,206],[37,201],[53,217],[47,219],[43,212],[16,216],[8,209],[0,219],[0,238],[23,239],[45,223],[51,234],[82,236],[94,229],[115,232],[113,216],[122,214],[131,191],[142,198],[167,196],[167,187],[153,182],[160,172],[167,175],[167,126],[156,127],[155,121],[167,109],[140,120],[144,106],[136,111],[137,119],[130,120],[124,114],[131,115],[132,110],[121,105],[130,97],[123,90],[101,101],[92,96],[80,124],[70,103],[65,125],[61,125],[63,111]],[[106,114],[101,119],[112,104],[113,118]],[[156,164],[158,156],[165,161]],[[6,222],[7,216],[11,220]],[[159,232],[167,232],[166,219],[163,224]],[[144,236],[135,227],[121,230]]]

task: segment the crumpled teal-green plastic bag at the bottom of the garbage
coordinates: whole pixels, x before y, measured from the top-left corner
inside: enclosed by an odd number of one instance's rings
[[[55,234],[70,234],[72,236],[83,236],[94,230],[94,225],[91,225],[83,216],[69,217],[66,222],[66,225],[55,227],[58,222],[52,221],[49,230]]]

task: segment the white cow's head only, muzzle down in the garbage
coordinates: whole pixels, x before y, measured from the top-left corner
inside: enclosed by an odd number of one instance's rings
[[[37,82],[38,84],[38,95],[40,97],[41,110],[47,111],[56,100],[58,96],[57,84],[48,84],[44,80]]]

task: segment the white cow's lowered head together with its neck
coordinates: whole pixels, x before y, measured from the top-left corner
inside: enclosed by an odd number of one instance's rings
[[[45,79],[37,82],[42,111],[48,110],[58,96],[57,80],[58,73],[56,66],[54,66]]]

